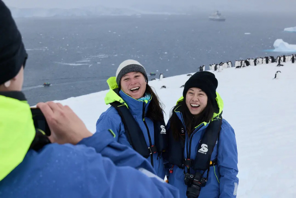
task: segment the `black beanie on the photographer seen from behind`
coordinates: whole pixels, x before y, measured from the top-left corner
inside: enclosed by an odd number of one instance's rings
[[[0,0],[0,85],[11,80],[26,64],[22,36],[10,10]]]

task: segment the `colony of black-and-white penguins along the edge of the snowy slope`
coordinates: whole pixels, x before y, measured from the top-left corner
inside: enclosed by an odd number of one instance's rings
[[[269,57],[259,57],[259,58],[253,58],[253,59],[246,59],[246,60],[236,60],[234,67],[235,69],[237,68],[243,68],[243,67],[247,67],[250,65],[256,66],[259,64],[269,64],[269,63],[277,63],[276,67],[281,67],[283,66],[281,63],[285,63],[287,61],[291,61],[292,63],[296,62],[296,55],[282,55],[282,56],[277,56],[276,59],[273,56],[269,56]],[[231,61],[227,61],[227,62],[221,62],[219,64],[211,64],[209,65],[210,70],[213,71],[218,71],[221,72],[223,69],[225,68],[230,68],[232,67],[232,62]],[[199,67],[199,71],[206,71],[205,65],[200,66]],[[278,79],[279,73],[281,73],[280,71],[277,71],[275,73],[275,76],[273,79]],[[191,74],[187,74],[187,76],[192,76]],[[163,73],[160,74],[160,80],[162,80],[164,77]],[[151,80],[156,80],[151,79]],[[182,85],[180,88],[183,88],[184,85]],[[163,88],[167,88],[166,86],[162,86],[161,89]]]

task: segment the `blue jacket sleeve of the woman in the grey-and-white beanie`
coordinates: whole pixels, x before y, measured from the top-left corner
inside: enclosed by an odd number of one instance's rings
[[[111,131],[112,132],[111,132]],[[129,146],[130,143],[124,133],[124,126],[118,114],[103,113],[96,123],[96,133],[114,133],[115,140],[121,144]]]

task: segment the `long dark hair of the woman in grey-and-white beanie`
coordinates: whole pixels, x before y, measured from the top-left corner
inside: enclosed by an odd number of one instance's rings
[[[150,93],[152,97],[146,116],[152,119],[153,121],[164,120],[165,105],[160,101],[158,95],[148,84],[146,85],[146,93]]]

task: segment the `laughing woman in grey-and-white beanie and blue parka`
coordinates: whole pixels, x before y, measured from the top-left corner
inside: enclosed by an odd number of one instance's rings
[[[166,147],[166,129],[163,109],[158,96],[147,82],[146,71],[139,62],[122,62],[116,77],[107,80],[110,91],[106,94],[105,103],[111,104],[111,107],[100,115],[96,131],[108,133],[110,129],[119,143],[131,146],[136,151],[137,147],[144,146],[146,156],[142,156],[151,162],[157,175],[164,179],[162,151]],[[121,115],[120,108],[125,108]],[[142,139],[137,139],[137,136],[142,136]]]

